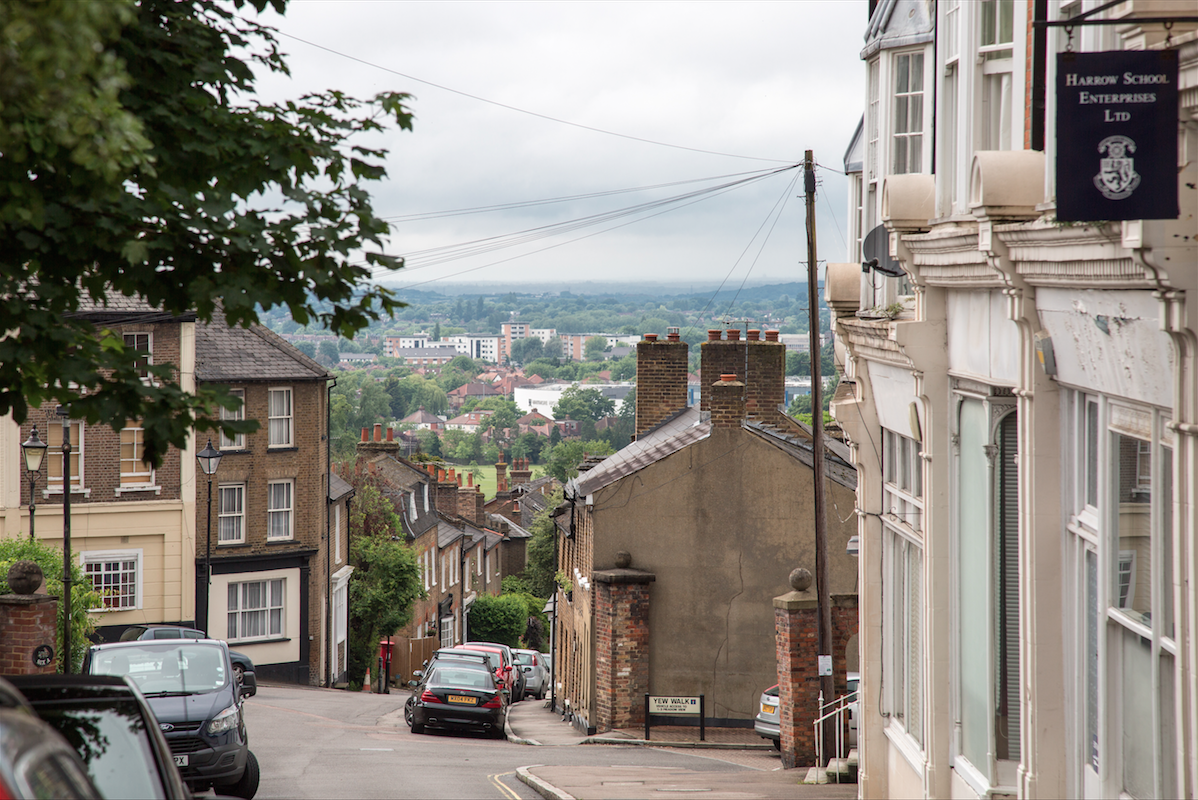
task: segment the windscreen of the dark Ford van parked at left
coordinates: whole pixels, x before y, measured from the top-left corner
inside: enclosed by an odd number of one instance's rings
[[[99,649],[92,653],[91,674],[128,675],[144,695],[200,695],[229,681],[224,650],[187,640]]]

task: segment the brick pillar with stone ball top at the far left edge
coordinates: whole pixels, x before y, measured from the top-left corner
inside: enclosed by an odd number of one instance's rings
[[[59,599],[35,594],[42,569],[18,560],[8,569],[12,594],[0,595],[0,674],[41,675],[58,668]]]

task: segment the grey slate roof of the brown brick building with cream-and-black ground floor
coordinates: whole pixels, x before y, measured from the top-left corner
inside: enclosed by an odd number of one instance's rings
[[[210,325],[195,326],[195,380],[320,381],[328,371],[283,337],[261,326],[230,327],[218,310]]]

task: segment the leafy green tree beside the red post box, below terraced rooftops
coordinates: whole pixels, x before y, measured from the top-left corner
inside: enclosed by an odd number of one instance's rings
[[[371,474],[355,474],[350,504],[350,663],[351,685],[362,685],[374,663],[379,640],[412,619],[412,604],[425,596],[412,549],[404,544],[399,514]]]

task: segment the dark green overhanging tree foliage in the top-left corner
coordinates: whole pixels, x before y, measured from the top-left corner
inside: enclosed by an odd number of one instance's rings
[[[240,12],[284,0],[0,4],[0,413],[69,405],[114,430],[141,419],[145,455],[222,423],[216,388],[184,392],[169,363],[143,381],[122,338],[73,317],[114,290],[231,325],[285,305],[352,337],[401,308],[373,283],[387,223],[368,183],[386,154],[359,144],[406,96],[341,92],[272,104],[255,72],[286,73],[273,31]]]

